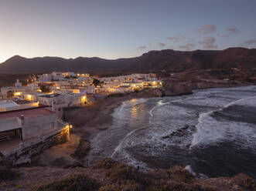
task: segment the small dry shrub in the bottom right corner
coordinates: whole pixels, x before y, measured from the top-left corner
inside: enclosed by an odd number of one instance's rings
[[[250,176],[247,176],[243,173],[238,174],[230,179],[230,184],[241,186],[244,189],[256,190],[256,185],[254,183],[254,179]]]

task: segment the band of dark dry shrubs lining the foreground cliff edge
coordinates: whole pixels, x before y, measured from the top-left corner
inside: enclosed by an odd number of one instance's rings
[[[95,179],[95,176],[92,176],[94,173],[101,173],[104,178]],[[244,174],[233,178],[196,179],[181,166],[145,173],[112,159],[104,159],[92,168],[84,169],[84,173],[74,173],[33,188],[34,191],[249,191],[255,189],[254,180]]]

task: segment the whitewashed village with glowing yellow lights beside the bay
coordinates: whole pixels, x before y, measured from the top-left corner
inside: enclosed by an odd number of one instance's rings
[[[155,89],[162,82],[155,74],[131,74],[98,78],[88,73],[52,72],[30,75],[28,84],[19,79],[1,88],[0,156],[12,165],[29,163],[56,142],[70,139],[73,125],[66,122],[63,109],[94,104],[110,94]]]

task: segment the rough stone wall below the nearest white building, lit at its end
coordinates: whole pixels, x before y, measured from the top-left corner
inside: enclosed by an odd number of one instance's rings
[[[56,146],[67,142],[70,139],[70,129],[65,127],[60,132],[46,139],[32,142],[30,146],[19,149],[10,156],[0,156],[0,165],[19,166],[26,163],[31,163],[32,157],[39,155],[45,149],[51,146]]]

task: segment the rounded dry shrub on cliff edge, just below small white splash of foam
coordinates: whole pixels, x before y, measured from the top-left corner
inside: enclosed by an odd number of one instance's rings
[[[179,183],[194,183],[195,179],[188,170],[182,166],[172,166],[166,172],[170,179],[175,180]]]

